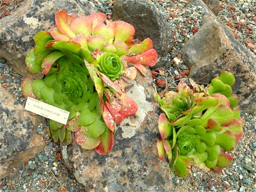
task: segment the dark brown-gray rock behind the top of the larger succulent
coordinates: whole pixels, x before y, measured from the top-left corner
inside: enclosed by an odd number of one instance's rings
[[[147,0],[116,0],[112,19],[132,24],[136,30],[135,38],[139,40],[151,38],[159,56],[155,67],[166,65],[174,39],[168,23],[153,4]]]

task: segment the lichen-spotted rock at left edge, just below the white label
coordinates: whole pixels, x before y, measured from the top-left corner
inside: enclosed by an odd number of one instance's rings
[[[0,86],[0,179],[13,168],[33,158],[45,148],[41,136],[35,133],[43,118],[29,115],[13,96]]]

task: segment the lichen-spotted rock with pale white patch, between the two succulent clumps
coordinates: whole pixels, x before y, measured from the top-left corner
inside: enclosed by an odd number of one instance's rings
[[[170,191],[172,174],[167,161],[157,157],[157,105],[152,77],[137,77],[127,94],[136,101],[136,115],[124,119],[115,133],[113,150],[100,156],[76,141],[61,147],[67,168],[87,191]]]

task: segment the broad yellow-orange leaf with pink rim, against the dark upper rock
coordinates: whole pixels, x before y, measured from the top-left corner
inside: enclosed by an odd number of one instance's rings
[[[131,42],[135,33],[134,27],[122,20],[115,22],[115,41]]]

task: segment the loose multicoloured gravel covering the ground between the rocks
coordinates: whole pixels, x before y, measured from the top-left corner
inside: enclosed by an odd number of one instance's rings
[[[96,10],[106,13],[111,19],[113,1],[103,0],[79,0],[81,3],[91,3]],[[176,88],[180,79],[188,81],[188,67],[181,59],[183,45],[193,36],[202,25],[204,11],[200,6],[193,6],[184,0],[148,0],[163,13],[175,36],[175,45],[170,52],[172,61],[166,67],[152,70],[152,76],[156,83],[157,92]],[[250,51],[255,53],[255,0],[221,0],[221,12],[219,19],[237,34],[237,39]],[[234,17],[236,16],[236,17]],[[241,28],[237,25],[243,22]],[[248,29],[249,28],[252,30]],[[239,29],[238,29],[239,28]],[[246,30],[249,30],[249,33]],[[252,44],[252,45],[251,45]],[[24,106],[25,100],[20,92],[22,77],[6,65],[4,59],[0,59],[0,83],[17,99],[17,104]],[[191,175],[182,179],[173,176],[172,191],[253,191],[256,192],[256,117],[255,115],[241,114],[245,120],[243,140],[237,143],[231,154],[234,160],[222,173],[214,173],[192,166]],[[84,191],[72,174],[65,168],[60,154],[59,143],[52,143],[47,134],[47,125],[36,128],[41,134],[47,147],[34,159],[22,164],[13,170],[8,177],[0,181],[1,191]],[[166,163],[168,168],[168,163]],[[170,181],[171,182],[171,181]],[[64,189],[65,188],[65,189]]]

